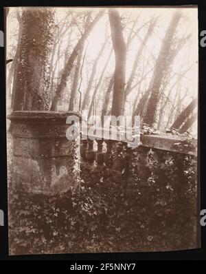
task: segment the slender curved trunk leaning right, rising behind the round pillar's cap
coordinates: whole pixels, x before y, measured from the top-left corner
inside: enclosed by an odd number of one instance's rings
[[[69,60],[67,61],[67,64],[65,65],[65,68],[62,72],[62,75],[61,75],[61,78],[60,78],[60,83],[59,83],[58,87],[56,88],[56,94],[53,98],[52,106],[51,106],[50,110],[56,110],[58,101],[60,100],[60,98],[62,96],[62,90],[67,85],[67,77],[71,73],[71,70],[73,68],[73,63],[76,60],[76,57],[78,56],[78,54],[80,52],[80,49],[82,48],[82,44],[87,39],[87,37],[89,36],[91,30],[93,30],[95,24],[98,23],[98,21],[100,20],[100,18],[102,17],[103,14],[104,14],[104,11],[101,11],[101,12],[98,13],[98,15],[95,17],[93,22],[87,28],[87,30],[85,30],[84,34],[82,34],[82,37],[80,38],[80,40],[76,44],[76,47],[74,48],[73,52],[71,53],[71,56],[69,57]]]

